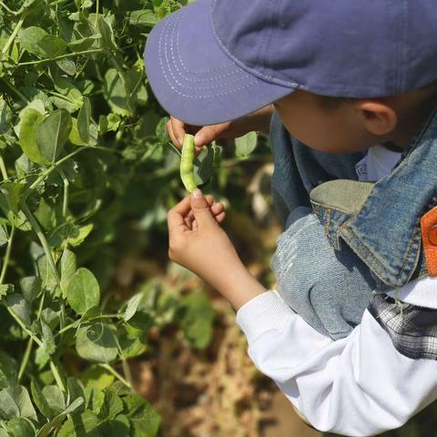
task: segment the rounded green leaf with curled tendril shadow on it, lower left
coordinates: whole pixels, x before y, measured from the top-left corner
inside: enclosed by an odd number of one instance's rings
[[[117,329],[112,323],[86,323],[77,330],[76,351],[85,360],[111,362],[117,359]]]

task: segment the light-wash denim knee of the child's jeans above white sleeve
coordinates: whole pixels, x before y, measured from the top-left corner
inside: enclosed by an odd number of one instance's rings
[[[349,249],[335,250],[310,208],[294,209],[270,262],[282,299],[315,330],[341,339],[361,322],[374,281]]]

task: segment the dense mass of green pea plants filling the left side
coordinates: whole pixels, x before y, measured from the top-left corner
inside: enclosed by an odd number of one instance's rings
[[[107,293],[121,219],[142,210],[145,231],[162,225],[182,194],[142,59],[181,5],[0,1],[0,437],[155,436],[127,360],[169,310],[208,344],[205,297]]]

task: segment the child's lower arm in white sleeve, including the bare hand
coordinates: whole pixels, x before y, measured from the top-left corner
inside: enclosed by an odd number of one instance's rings
[[[170,210],[168,229],[170,259],[232,303],[250,358],[315,428],[374,435],[437,399],[437,305],[407,303],[401,313],[394,300],[375,295],[361,325],[332,341],[251,277],[204,198]]]

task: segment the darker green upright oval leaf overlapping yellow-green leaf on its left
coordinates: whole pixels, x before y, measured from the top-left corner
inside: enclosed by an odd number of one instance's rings
[[[71,116],[65,109],[58,109],[36,128],[36,143],[48,162],[55,162],[62,152],[71,127]]]

